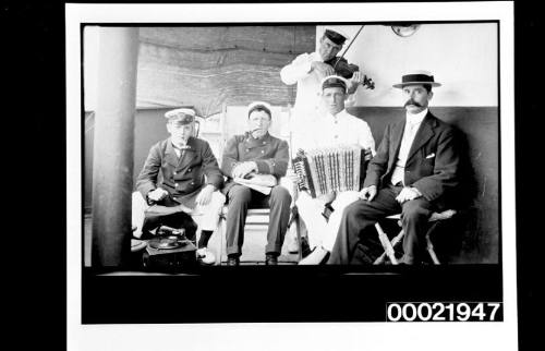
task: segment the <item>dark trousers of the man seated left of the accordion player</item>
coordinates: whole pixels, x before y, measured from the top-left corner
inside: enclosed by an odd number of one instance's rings
[[[249,208],[270,208],[269,228],[265,253],[280,254],[288,221],[290,219],[291,195],[282,186],[272,187],[269,195],[234,184],[226,194],[227,211],[227,254],[240,255],[244,243],[244,225]]]

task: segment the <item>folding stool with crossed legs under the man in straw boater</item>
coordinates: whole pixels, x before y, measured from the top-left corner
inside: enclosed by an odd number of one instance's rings
[[[429,254],[429,257],[432,258],[432,262],[435,265],[439,265],[440,262],[437,258],[437,255],[434,251],[434,245],[432,243],[432,240],[429,239],[429,234],[432,233],[432,231],[435,229],[435,227],[437,227],[437,225],[441,220],[449,219],[452,216],[455,216],[456,214],[457,214],[457,211],[455,209],[447,209],[447,210],[444,210],[441,213],[433,213],[428,219],[428,222],[432,223],[432,227],[426,232],[426,250],[427,250],[427,253]],[[388,216],[388,217],[386,217],[386,219],[396,219],[398,221],[398,226],[401,227],[401,214]],[[384,253],[377,259],[375,259],[374,264],[380,265],[384,263],[385,258],[388,257],[392,265],[397,265],[398,261],[396,258],[393,247],[396,247],[396,245],[403,239],[403,235],[404,235],[403,229],[401,229],[401,231],[396,237],[393,237],[393,239],[390,241],[388,239],[388,235],[386,235],[386,233],[384,232],[383,228],[380,227],[380,225],[378,222],[375,223],[375,228],[378,232],[378,240],[380,241],[380,244],[383,245]]]

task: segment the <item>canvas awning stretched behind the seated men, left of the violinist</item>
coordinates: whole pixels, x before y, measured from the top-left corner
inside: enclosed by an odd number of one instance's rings
[[[315,49],[315,26],[143,27],[137,107],[194,106],[207,117],[228,105],[293,104],[280,69]],[[266,53],[266,55],[264,55]]]

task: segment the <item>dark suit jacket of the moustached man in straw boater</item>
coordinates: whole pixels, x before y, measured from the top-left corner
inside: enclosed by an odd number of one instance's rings
[[[379,189],[390,182],[404,125],[403,118],[386,126],[377,154],[368,165],[364,186],[376,185]],[[459,157],[455,130],[428,112],[409,152],[405,185],[416,187],[424,198],[439,208],[447,207],[459,186]]]

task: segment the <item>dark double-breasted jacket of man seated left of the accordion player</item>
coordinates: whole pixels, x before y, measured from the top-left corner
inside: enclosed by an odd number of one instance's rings
[[[223,193],[234,184],[231,172],[237,165],[255,161],[258,173],[280,179],[286,175],[289,159],[288,143],[269,133],[261,138],[254,138],[249,132],[231,137],[226,144],[221,161],[221,171],[228,177]]]

